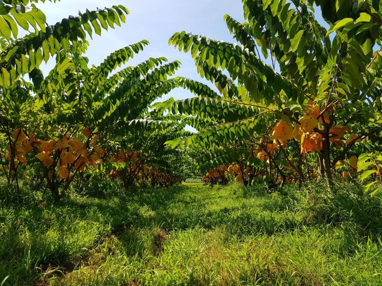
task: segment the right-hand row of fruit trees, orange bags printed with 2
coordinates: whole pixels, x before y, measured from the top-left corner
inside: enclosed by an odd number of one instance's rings
[[[196,97],[155,106],[198,130],[168,146],[191,150],[202,173],[244,162],[271,184],[293,175],[330,185],[361,172],[374,178],[367,188],[381,182],[382,2],[243,0],[243,7],[247,22],[224,17],[240,45],[184,31],[170,38],[219,93],[199,84]]]

